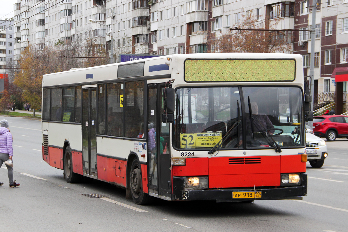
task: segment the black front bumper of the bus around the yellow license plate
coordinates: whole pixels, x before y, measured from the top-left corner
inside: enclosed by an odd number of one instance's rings
[[[231,189],[184,190],[185,177],[173,177],[173,200],[216,200],[241,202],[249,200],[302,200],[307,195],[307,173],[301,173],[301,185]],[[233,198],[233,192],[261,192],[260,198]]]

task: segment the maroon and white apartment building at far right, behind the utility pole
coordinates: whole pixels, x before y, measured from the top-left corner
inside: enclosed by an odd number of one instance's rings
[[[315,22],[314,97],[317,103],[333,101],[336,71],[348,71],[348,0],[321,0],[317,3]],[[295,28],[309,30],[313,0],[295,1]],[[303,56],[304,75],[309,74],[311,36],[309,32],[295,34],[294,53]],[[343,82],[346,101],[347,82]]]

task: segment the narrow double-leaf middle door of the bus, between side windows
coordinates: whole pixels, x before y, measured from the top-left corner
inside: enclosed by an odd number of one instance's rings
[[[97,178],[96,88],[82,92],[82,155],[84,176]]]

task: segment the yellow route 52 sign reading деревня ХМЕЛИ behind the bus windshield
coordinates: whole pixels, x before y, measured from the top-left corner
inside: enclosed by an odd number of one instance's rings
[[[221,132],[216,133],[183,133],[180,134],[180,146],[213,147],[221,140]]]

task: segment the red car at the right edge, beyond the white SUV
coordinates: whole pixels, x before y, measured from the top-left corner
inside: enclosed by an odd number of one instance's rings
[[[326,137],[327,141],[348,138],[348,117],[343,115],[322,115],[313,119],[314,135]]]

